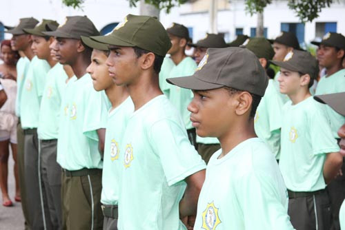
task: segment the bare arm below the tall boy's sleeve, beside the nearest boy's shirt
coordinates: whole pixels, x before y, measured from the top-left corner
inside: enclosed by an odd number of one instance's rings
[[[187,182],[186,191],[184,191],[184,198],[179,202],[180,218],[197,214],[197,200],[204,184],[205,172],[205,169],[197,171],[185,179]]]

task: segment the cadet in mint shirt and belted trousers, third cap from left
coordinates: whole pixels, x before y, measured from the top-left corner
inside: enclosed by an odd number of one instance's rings
[[[57,163],[61,165],[63,229],[101,229],[101,169],[108,98],[97,92],[86,68],[92,49],[81,36],[99,35],[86,16],[67,17],[53,32],[59,63],[72,67],[76,78],[68,81],[61,101]]]

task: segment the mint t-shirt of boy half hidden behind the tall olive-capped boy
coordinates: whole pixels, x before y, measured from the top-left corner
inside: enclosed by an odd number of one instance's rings
[[[134,112],[132,99],[126,101],[109,112],[104,143],[103,174],[101,202],[103,205],[117,205],[119,200],[119,162],[121,141],[126,130],[130,114]]]

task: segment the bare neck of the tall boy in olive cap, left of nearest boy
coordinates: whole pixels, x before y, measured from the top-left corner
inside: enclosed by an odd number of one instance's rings
[[[127,85],[130,98],[135,106],[135,111],[151,101],[152,98],[163,94],[159,89],[158,76],[153,76],[153,70],[143,72],[137,81]]]

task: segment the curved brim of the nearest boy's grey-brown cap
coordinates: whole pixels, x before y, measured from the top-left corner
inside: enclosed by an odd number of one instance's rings
[[[189,89],[189,90],[215,90],[224,85],[218,85],[215,83],[208,83],[206,81],[201,81],[195,76],[181,76],[171,79],[166,79],[166,81],[172,85],[177,85],[179,87]]]

